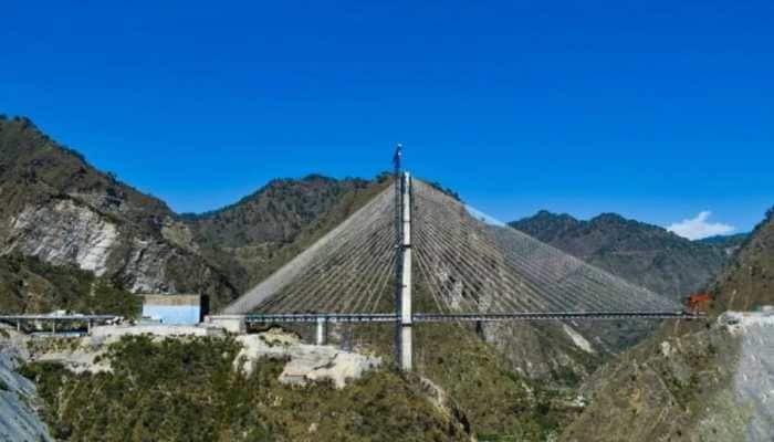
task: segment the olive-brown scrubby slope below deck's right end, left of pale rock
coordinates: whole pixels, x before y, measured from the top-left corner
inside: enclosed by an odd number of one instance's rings
[[[582,390],[590,403],[561,440],[743,440],[746,410],[733,392],[739,338],[703,322],[689,328],[677,336],[667,324],[596,372]]]

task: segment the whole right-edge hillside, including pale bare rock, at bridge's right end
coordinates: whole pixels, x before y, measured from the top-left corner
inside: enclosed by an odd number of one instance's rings
[[[666,324],[594,373],[588,407],[561,440],[771,441],[774,438],[774,210],[726,265],[707,322]]]

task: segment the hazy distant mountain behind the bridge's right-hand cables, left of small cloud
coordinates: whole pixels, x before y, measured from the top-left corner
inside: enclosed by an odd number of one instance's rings
[[[540,211],[510,225],[678,302],[713,281],[728,260],[722,245],[691,242],[614,213],[580,221]]]

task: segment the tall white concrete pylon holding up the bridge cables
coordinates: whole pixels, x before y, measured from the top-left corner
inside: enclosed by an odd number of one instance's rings
[[[400,336],[399,356],[400,368],[411,371],[412,368],[412,346],[411,346],[411,177],[404,173],[401,186],[402,220],[401,220],[401,253],[402,271],[400,281]]]

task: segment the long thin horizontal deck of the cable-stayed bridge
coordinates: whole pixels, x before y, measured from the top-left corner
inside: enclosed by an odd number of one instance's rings
[[[623,320],[623,319],[701,319],[707,315],[689,312],[575,312],[575,313],[417,313],[415,323],[449,322],[508,322],[508,320]],[[245,316],[249,324],[268,323],[395,323],[400,319],[393,313],[341,314],[341,313],[297,313],[297,314],[252,314]]]

